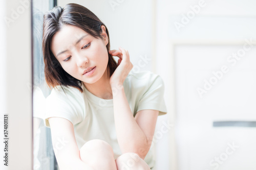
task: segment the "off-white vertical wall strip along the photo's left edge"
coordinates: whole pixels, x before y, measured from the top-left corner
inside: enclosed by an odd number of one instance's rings
[[[0,2],[0,16],[0,169],[32,169],[30,2],[3,0]],[[9,24],[4,19],[9,19]],[[8,114],[8,139],[4,139],[4,114]],[[3,161],[7,153],[4,152],[5,140],[8,140],[8,166]]]

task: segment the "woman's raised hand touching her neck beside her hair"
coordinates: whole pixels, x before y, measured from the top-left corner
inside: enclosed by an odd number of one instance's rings
[[[119,47],[119,50],[110,50],[109,54],[119,57],[117,68],[110,78],[111,87],[123,85],[124,80],[133,68],[130,56],[127,50]]]

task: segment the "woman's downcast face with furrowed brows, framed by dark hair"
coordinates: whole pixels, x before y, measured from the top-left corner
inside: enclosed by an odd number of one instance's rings
[[[52,38],[51,50],[62,68],[72,77],[93,84],[102,78],[108,66],[109,56],[106,44],[108,36],[105,27],[101,26],[101,38],[94,38],[82,29],[65,25]],[[78,42],[79,41],[79,42]],[[95,67],[91,75],[83,74]]]

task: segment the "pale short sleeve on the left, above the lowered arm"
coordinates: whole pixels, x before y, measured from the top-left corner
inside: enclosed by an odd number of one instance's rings
[[[64,91],[53,89],[46,98],[45,126],[50,128],[49,117],[62,117],[68,119],[73,125],[79,121],[76,101],[74,97]]]

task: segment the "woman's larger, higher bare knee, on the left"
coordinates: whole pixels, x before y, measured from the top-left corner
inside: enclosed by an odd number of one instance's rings
[[[80,158],[95,170],[117,170],[111,145],[100,139],[90,140],[81,147]]]

